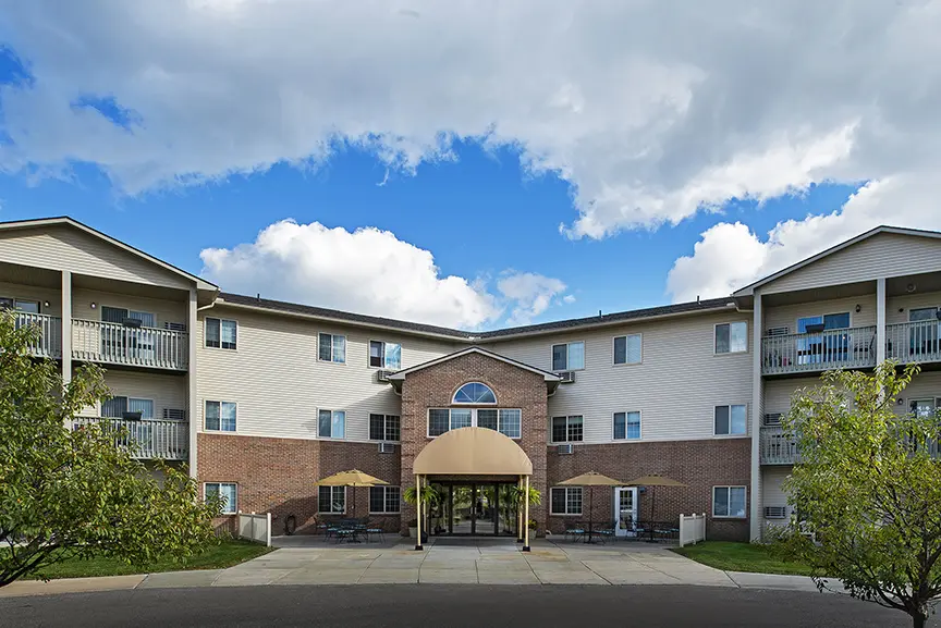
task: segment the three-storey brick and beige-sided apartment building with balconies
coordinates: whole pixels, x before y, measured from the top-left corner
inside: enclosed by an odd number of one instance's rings
[[[435,534],[516,534],[505,489],[525,479],[540,534],[706,513],[710,538],[759,539],[789,514],[796,390],[893,358],[924,368],[900,411],[941,403],[941,234],[894,227],[724,298],[466,332],[220,292],[44,219],[0,223],[0,305],[40,325],[34,353],[66,380],[107,369],[113,398],[76,422],[126,427],[143,459],[187,464],[276,530],[355,514],[404,533],[421,477],[444,496]],[[317,485],[351,468],[388,484]],[[624,485],[560,484],[587,471]]]

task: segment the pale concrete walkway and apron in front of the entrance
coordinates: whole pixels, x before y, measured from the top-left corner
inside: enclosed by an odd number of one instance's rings
[[[290,541],[289,541],[290,542]],[[113,589],[268,584],[697,584],[816,591],[799,576],[741,574],[707,567],[646,543],[582,545],[538,541],[529,553],[512,540],[438,540],[424,552],[398,543],[334,545],[300,540],[229,569],[148,576],[20,581],[0,596]]]

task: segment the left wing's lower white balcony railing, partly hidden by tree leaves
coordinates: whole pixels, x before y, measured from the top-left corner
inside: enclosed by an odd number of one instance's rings
[[[190,423],[166,419],[111,419],[76,417],[73,429],[105,421],[115,432],[114,444],[129,447],[131,455],[142,460],[162,458],[186,460],[190,452]],[[120,432],[120,433],[119,433]]]

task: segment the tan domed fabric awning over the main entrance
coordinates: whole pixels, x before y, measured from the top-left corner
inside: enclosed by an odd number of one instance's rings
[[[531,476],[533,463],[512,439],[488,428],[461,428],[425,445],[415,475]]]

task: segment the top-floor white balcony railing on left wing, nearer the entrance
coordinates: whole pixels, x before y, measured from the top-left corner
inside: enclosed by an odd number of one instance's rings
[[[74,319],[72,357],[76,360],[186,370],[188,334]]]

